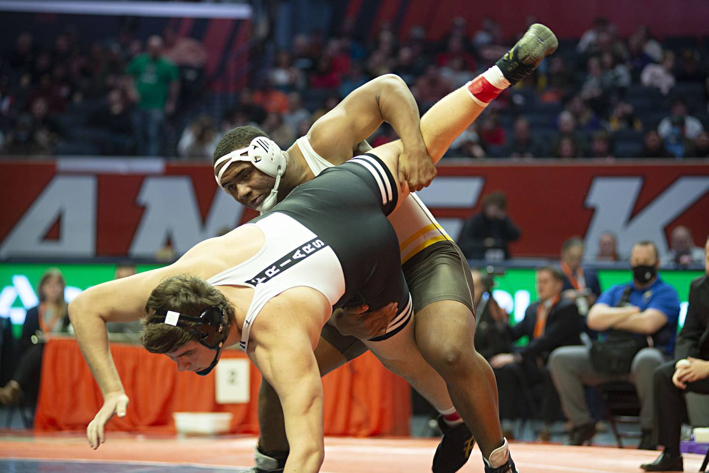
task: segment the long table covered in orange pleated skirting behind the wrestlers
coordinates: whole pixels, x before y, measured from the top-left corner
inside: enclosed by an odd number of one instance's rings
[[[139,345],[112,343],[111,353],[130,398],[124,418],[114,417],[107,430],[174,433],[172,413],[231,412],[232,433],[258,433],[257,394],[261,373],[250,364],[250,401],[217,404],[214,373],[199,377],[177,372],[164,355]],[[223,358],[246,357],[225,350]],[[325,435],[408,435],[411,391],[403,379],[386,371],[367,352],[323,378]],[[298,386],[294,386],[298,389]],[[35,430],[85,430],[103,405],[76,340],[52,338],[45,350]]]

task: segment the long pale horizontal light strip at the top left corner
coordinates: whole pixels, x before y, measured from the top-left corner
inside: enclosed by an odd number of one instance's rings
[[[251,6],[248,4],[194,4],[184,1],[0,0],[0,11],[239,20],[249,20],[253,16]]]

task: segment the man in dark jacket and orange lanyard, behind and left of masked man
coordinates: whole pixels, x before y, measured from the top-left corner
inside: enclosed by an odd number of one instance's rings
[[[586,316],[588,308],[593,306],[601,296],[601,284],[593,269],[581,267],[581,258],[584,257],[584,240],[573,237],[562,245],[562,260],[560,263],[564,274],[562,296],[576,303],[581,316]]]

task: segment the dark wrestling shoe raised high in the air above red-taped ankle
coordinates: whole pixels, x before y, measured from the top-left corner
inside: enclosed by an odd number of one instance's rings
[[[552,30],[535,23],[495,65],[500,68],[510,85],[515,85],[537,69],[542,59],[558,47],[559,40]]]

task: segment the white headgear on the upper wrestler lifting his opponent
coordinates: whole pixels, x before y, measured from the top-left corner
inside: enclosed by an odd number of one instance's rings
[[[249,161],[254,164],[256,169],[263,172],[267,176],[275,177],[276,183],[271,189],[271,193],[264,201],[256,208],[257,211],[265,212],[270,210],[277,203],[278,187],[281,184],[281,176],[286,172],[286,157],[281,148],[273,140],[269,140],[265,136],[257,136],[251,140],[250,145],[240,150],[235,150],[220,157],[214,163],[214,178],[217,180],[217,185],[221,186],[221,178],[226,172],[226,169],[233,162]],[[217,172],[217,167],[223,162],[225,165]],[[223,189],[223,188],[222,188]],[[228,193],[226,189],[223,189]]]

